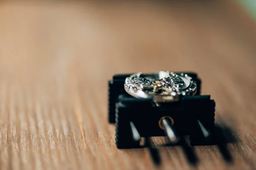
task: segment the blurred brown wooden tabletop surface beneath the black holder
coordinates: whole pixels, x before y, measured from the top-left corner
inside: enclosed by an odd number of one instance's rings
[[[232,0],[1,1],[0,167],[256,169],[255,65],[256,24]],[[198,72],[234,140],[117,150],[107,80],[158,70]]]

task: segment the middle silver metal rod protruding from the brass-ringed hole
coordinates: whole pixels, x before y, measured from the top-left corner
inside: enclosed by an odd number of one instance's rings
[[[169,142],[175,144],[179,142],[179,138],[176,136],[172,124],[168,118],[162,119],[161,125],[166,133]]]

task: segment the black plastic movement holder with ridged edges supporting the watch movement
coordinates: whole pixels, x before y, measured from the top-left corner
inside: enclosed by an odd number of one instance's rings
[[[179,74],[179,73],[177,73]],[[160,119],[172,119],[173,128],[179,136],[189,135],[191,145],[208,145],[212,140],[205,138],[198,121],[209,133],[214,130],[215,102],[209,95],[200,95],[201,79],[195,73],[188,74],[197,83],[194,96],[183,96],[178,102],[163,103],[160,107],[150,99],[138,99],[127,94],[125,78],[131,74],[119,74],[109,81],[108,121],[116,124],[116,146],[122,148],[140,147],[134,142],[130,122],[133,122],[142,137],[165,136]]]

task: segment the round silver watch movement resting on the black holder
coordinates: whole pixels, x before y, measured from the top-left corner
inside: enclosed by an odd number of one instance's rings
[[[156,74],[132,74],[125,79],[125,91],[136,98],[154,102],[175,102],[182,96],[194,95],[196,82],[187,74],[158,71]]]

